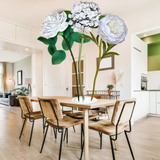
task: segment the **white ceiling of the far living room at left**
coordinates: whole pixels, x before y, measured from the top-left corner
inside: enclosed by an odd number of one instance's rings
[[[0,50],[1,62],[15,63],[29,56],[30,56],[29,54],[25,54],[25,53],[16,53],[16,52],[11,52],[6,50]]]

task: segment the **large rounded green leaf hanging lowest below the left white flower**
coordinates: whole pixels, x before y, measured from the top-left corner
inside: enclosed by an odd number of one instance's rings
[[[52,64],[60,64],[66,59],[66,53],[63,50],[57,50],[53,55],[52,55]]]

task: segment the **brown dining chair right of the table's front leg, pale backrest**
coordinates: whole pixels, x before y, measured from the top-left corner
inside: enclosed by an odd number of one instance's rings
[[[116,141],[118,138],[118,135],[121,134],[122,132],[125,133],[125,136],[128,142],[128,146],[129,146],[129,149],[132,155],[132,159],[135,160],[133,151],[132,151],[132,148],[131,148],[131,145],[130,145],[130,142],[127,136],[127,133],[131,132],[131,118],[133,115],[135,104],[136,104],[136,99],[117,100],[114,106],[114,111],[113,111],[111,121],[110,120],[100,120],[96,123],[89,124],[89,129],[92,129],[99,133],[106,134],[110,137],[110,144],[111,144],[113,160],[115,160],[115,155],[114,155],[112,141]],[[129,122],[129,130],[126,130],[128,127],[126,123],[128,122]],[[84,142],[82,144],[80,160],[82,159],[83,148],[84,148]]]

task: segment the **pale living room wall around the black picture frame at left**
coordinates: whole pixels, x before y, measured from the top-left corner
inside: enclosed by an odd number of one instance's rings
[[[17,85],[17,71],[22,70],[23,84],[25,85],[25,78],[32,78],[31,74],[31,56],[13,63],[13,77],[15,80],[15,88],[21,87]]]

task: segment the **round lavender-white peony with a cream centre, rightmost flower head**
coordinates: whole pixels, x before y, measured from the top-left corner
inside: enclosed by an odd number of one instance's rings
[[[98,23],[98,35],[109,44],[122,43],[127,32],[124,21],[116,15],[106,15]]]

